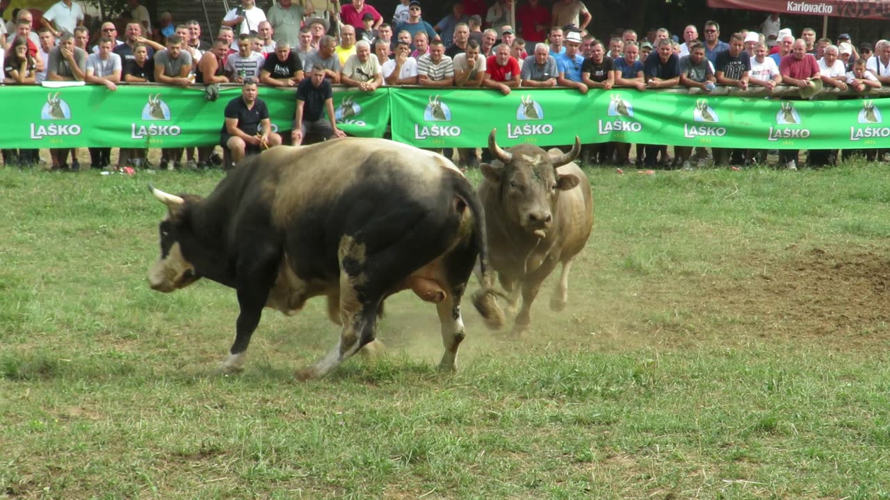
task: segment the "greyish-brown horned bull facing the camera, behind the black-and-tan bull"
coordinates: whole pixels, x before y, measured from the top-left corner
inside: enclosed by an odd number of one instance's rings
[[[514,334],[531,323],[531,302],[544,279],[562,262],[562,276],[550,309],[562,310],[568,296],[571,263],[584,248],[594,225],[593,194],[587,177],[572,161],[580,141],[569,153],[545,151],[531,144],[501,149],[495,131],[489,149],[497,161],[481,165],[485,176],[479,198],[485,209],[491,267],[516,308]]]

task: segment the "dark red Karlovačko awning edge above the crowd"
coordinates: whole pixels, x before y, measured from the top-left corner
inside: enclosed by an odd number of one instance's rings
[[[890,19],[890,0],[708,0],[708,7],[805,16]]]

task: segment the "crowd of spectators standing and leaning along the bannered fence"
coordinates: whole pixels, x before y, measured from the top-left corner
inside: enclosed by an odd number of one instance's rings
[[[339,12],[330,0],[279,0],[268,12],[255,0],[239,0],[220,20],[214,43],[206,44],[197,20],[177,24],[163,12],[153,26],[139,0],[128,0],[128,7],[124,19],[103,22],[94,34],[71,0],[44,12],[36,33],[31,32],[32,12],[18,10],[12,26],[0,32],[4,84],[76,80],[115,92],[121,82],[182,87],[239,83],[240,103],[227,107],[221,137],[223,148],[239,157],[257,144],[229,126],[230,113],[243,115],[246,103],[254,112],[254,103],[262,104],[257,83],[295,87],[294,143],[313,131],[322,137],[342,134],[332,116],[323,117],[324,111],[333,113],[330,85],[362,92],[384,85],[488,87],[504,94],[519,87],[587,93],[679,86],[710,93],[717,85],[741,90],[759,86],[768,92],[777,85],[792,85],[805,90],[820,80],[842,91],[863,93],[890,83],[890,42],[856,45],[846,34],[837,40],[819,39],[812,28],[803,29],[797,38],[782,28],[778,14],[725,36],[718,23],[708,21],[700,39],[694,25],[684,27],[682,36],[671,36],[667,28],[651,29],[645,36],[628,28],[590,33],[593,14],[579,0],[554,0],[549,7],[540,0],[524,0],[518,6],[514,0],[461,0],[434,24],[424,18],[418,0],[401,0],[385,18],[365,0],[344,2]],[[118,38],[117,28],[123,28],[123,37]],[[268,141],[269,133],[263,137]],[[631,149],[613,143],[585,150],[592,161],[629,165]],[[110,149],[89,151],[91,166],[112,166]],[[694,160],[745,165],[765,159],[763,151],[698,149],[693,156],[692,148],[684,147],[676,147],[670,157],[663,144],[638,145],[635,151],[640,164],[687,169]],[[214,148],[184,153],[184,166],[196,168],[210,165]],[[465,165],[477,161],[473,149],[458,153]],[[811,151],[809,159],[826,163],[836,155]],[[164,149],[160,167],[180,167],[182,156],[181,148]],[[37,157],[34,150],[4,150],[7,163],[32,164]],[[75,149],[52,149],[51,159],[53,169],[79,167]],[[121,149],[114,166],[145,162],[144,150]],[[781,151],[780,162],[796,168],[797,151]]]

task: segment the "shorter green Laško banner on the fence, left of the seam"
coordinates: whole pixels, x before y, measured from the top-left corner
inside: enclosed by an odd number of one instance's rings
[[[239,88],[226,88],[216,101],[206,101],[203,87],[119,85],[117,91],[110,92],[101,85],[56,89],[7,86],[0,90],[7,120],[0,148],[217,144],[223,110],[240,93]],[[262,87],[260,99],[269,108],[272,130],[289,131],[294,122],[295,90]],[[338,126],[345,133],[383,136],[390,110],[386,89],[335,93],[334,101]]]

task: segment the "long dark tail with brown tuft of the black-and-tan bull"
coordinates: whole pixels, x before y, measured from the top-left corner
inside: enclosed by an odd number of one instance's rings
[[[494,273],[489,265],[489,238],[485,231],[485,213],[479,196],[473,186],[463,176],[454,177],[454,188],[457,196],[464,200],[473,214],[473,241],[479,254],[481,289],[473,293],[473,306],[479,311],[485,326],[491,330],[500,330],[506,325],[506,315],[498,304],[498,296],[504,296],[495,289]]]

